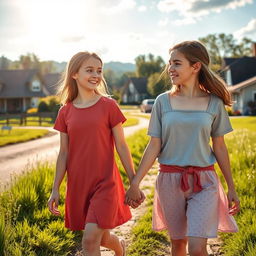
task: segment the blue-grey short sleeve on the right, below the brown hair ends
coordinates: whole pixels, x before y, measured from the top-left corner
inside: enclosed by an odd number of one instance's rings
[[[218,102],[217,113],[212,123],[211,136],[223,136],[224,134],[229,133],[231,131],[233,131],[233,129],[229,120],[228,113],[225,109],[222,100],[220,100]]]

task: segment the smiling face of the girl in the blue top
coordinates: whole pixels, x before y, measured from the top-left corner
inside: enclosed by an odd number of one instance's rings
[[[194,81],[195,68],[178,50],[171,51],[168,73],[175,85],[189,85]]]

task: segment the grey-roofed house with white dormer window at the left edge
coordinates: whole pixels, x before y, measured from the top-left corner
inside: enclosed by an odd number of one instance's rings
[[[36,69],[0,70],[0,113],[37,107],[40,98],[55,94],[57,75],[41,77]]]

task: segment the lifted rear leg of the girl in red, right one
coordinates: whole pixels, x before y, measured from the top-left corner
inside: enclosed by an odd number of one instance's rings
[[[123,256],[124,251],[120,240],[114,234],[111,234],[109,230],[105,230],[101,239],[101,245],[113,250],[116,256]]]

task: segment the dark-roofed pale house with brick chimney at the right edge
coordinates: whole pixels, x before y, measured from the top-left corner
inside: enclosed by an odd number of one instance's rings
[[[256,101],[256,43],[252,57],[224,58],[220,74],[232,95],[233,111],[248,114],[248,103]]]

